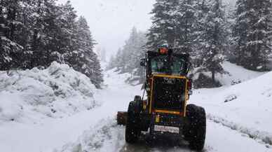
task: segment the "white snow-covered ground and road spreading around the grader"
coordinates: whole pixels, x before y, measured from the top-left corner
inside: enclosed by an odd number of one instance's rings
[[[225,76],[223,80],[222,76],[222,81],[240,78],[242,83],[194,90],[190,99],[190,103],[204,106],[208,113],[204,151],[272,152],[272,124],[269,119],[272,118],[272,73],[262,75],[229,63],[224,66],[230,68],[227,71],[233,77]],[[190,151],[186,143],[168,146],[162,142],[149,146],[144,138],[140,144],[125,144],[125,128],[116,125],[116,111],[125,111],[134,95],[142,94],[141,85],[132,86],[124,82],[129,76],[116,74],[114,70],[106,71],[104,89],[93,91],[94,101],[102,104],[93,109],[63,118],[44,118],[36,124],[15,120],[1,123],[0,151]]]

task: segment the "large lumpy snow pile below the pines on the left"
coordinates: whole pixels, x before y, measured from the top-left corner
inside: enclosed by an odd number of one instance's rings
[[[97,106],[90,79],[67,64],[0,71],[0,122],[62,118]]]

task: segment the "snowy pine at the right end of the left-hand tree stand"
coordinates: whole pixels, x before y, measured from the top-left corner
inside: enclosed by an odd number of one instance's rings
[[[76,50],[68,62],[76,71],[80,71],[90,78],[90,81],[97,87],[101,88],[103,82],[102,69],[97,55],[93,52],[95,41],[90,33],[88,22],[82,16],[79,18],[76,27],[76,40],[74,40]]]

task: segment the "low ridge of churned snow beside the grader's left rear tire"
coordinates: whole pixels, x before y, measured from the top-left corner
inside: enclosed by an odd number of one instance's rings
[[[83,132],[74,144],[66,144],[61,152],[92,151],[92,152],[114,152],[120,151],[125,143],[124,127],[117,125],[114,120],[107,118]]]

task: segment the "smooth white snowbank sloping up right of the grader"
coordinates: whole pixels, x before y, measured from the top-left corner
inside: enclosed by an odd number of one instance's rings
[[[209,118],[272,145],[272,72],[217,89],[196,90],[191,101]]]

